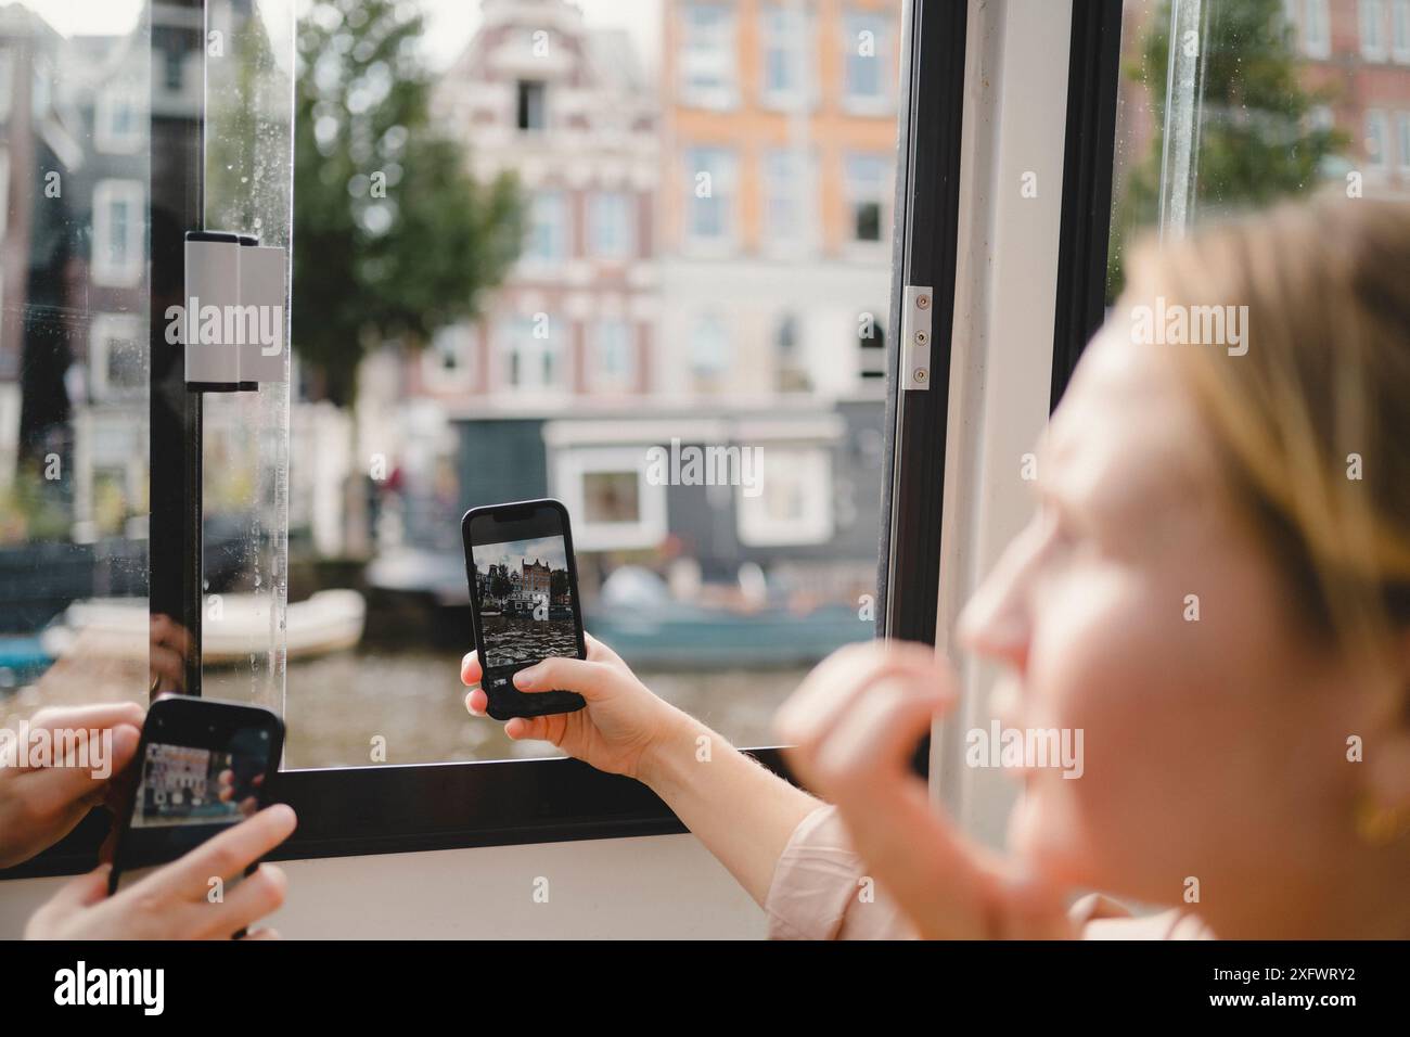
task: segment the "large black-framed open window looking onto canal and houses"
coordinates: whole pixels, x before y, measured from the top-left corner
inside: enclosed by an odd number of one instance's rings
[[[278,710],[288,856],[678,831],[464,711],[460,515],[540,495],[588,631],[768,766],[812,663],[933,638],[966,4],[17,7],[0,97],[42,63],[52,110],[0,148],[42,151],[4,226],[13,711]],[[230,384],[169,334],[212,231],[288,264],[289,347]]]

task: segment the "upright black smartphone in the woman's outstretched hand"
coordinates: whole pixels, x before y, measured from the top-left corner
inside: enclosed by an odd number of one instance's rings
[[[530,691],[513,676],[548,656],[587,659],[568,509],[560,501],[471,508],[461,521],[470,619],[495,720],[572,712],[577,691]]]

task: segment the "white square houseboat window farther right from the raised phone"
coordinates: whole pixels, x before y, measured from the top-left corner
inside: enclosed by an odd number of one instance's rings
[[[759,480],[739,487],[739,539],[750,547],[832,539],[832,459],[825,447],[763,446]]]

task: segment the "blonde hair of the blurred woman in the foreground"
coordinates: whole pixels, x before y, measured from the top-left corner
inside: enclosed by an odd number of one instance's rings
[[[1410,626],[1410,203],[1335,196],[1136,254],[1131,292],[1246,306],[1177,350],[1237,511],[1297,614],[1382,676]]]

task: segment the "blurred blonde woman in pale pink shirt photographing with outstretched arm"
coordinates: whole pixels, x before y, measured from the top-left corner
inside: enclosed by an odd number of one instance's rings
[[[1151,344],[1182,337],[1151,313],[1207,306],[1242,330]],[[955,698],[918,646],[843,649],[780,711],[833,806],[598,642],[516,676],[588,708],[508,734],[647,783],[773,935],[1410,935],[1410,209],[1320,200],[1144,253],[1038,474],[960,638],[1007,673],[1004,727],[1080,731],[1084,759],[1022,773],[1007,855],[907,768]],[[1087,890],[1166,911],[1069,906]]]

